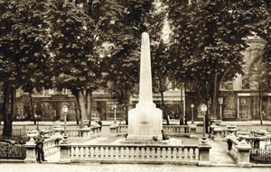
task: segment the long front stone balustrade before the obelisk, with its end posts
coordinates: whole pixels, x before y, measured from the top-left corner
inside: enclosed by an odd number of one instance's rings
[[[209,147],[172,145],[84,145],[66,144],[61,147],[59,163],[164,163],[198,165],[209,161]],[[206,151],[208,149],[208,151]],[[204,151],[205,153],[202,153]],[[207,156],[206,156],[207,152]],[[201,157],[203,156],[203,158]]]

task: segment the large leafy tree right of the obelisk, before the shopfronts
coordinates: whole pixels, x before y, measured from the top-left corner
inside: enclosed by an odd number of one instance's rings
[[[243,40],[257,22],[262,1],[167,1],[172,26],[175,73],[185,73],[201,102],[216,117],[220,84],[242,74]],[[174,64],[174,63],[173,63]]]

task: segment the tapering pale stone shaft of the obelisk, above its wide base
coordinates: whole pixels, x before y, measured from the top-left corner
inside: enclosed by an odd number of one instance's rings
[[[149,34],[143,32],[140,57],[139,105],[154,104],[152,87],[150,40]]]

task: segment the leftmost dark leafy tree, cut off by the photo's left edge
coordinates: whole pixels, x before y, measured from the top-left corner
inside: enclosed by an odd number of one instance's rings
[[[43,34],[46,24],[42,18],[46,3],[45,0],[0,3],[0,76],[4,91],[1,113],[4,115],[5,136],[12,135],[16,89],[29,86],[28,90],[33,90],[44,81],[41,76],[42,65],[38,62],[44,61],[46,56],[46,39]]]

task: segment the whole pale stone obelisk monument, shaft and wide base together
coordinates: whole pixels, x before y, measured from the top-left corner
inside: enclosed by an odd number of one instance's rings
[[[162,111],[153,102],[152,71],[149,34],[142,33],[140,57],[139,102],[128,113],[128,136],[126,140],[162,140]]]

